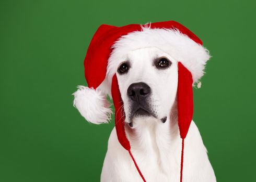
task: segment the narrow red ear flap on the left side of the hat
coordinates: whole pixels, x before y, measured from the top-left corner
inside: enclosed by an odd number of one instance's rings
[[[121,98],[117,75],[114,74],[112,79],[111,94],[115,108],[115,129],[117,130],[118,140],[120,144],[126,149],[130,150],[130,142],[125,135],[124,119],[125,113],[123,110],[123,101]]]

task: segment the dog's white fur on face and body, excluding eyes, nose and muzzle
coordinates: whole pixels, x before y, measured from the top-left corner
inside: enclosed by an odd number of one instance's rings
[[[153,60],[167,57],[171,66],[157,69]],[[132,83],[144,82],[152,89],[151,107],[157,114],[133,119],[133,127],[126,126],[127,138],[132,153],[147,181],[179,181],[181,161],[181,138],[177,124],[177,60],[155,47],[127,51],[122,59],[129,60],[130,70],[117,73],[119,89],[124,102],[125,122],[129,118],[130,103],[127,88]],[[122,62],[121,61],[121,62]],[[167,116],[166,123],[160,121]],[[206,148],[200,133],[192,121],[185,139],[183,181],[216,181],[213,168],[208,160]],[[101,181],[142,181],[129,153],[122,148],[115,128],[108,143]]]

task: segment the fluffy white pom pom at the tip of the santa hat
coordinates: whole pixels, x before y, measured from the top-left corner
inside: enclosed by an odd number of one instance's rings
[[[73,94],[74,107],[80,114],[91,123],[108,123],[111,120],[112,110],[107,96],[99,88],[88,88],[77,86],[77,91]]]

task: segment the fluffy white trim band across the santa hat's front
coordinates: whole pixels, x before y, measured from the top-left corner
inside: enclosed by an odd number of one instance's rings
[[[109,57],[108,79],[117,70],[118,65],[125,59],[125,55],[135,49],[157,47],[190,70],[193,81],[196,83],[204,74],[206,61],[210,59],[208,50],[197,44],[178,29],[151,29],[143,27],[142,31],[134,31],[121,36],[112,46]]]

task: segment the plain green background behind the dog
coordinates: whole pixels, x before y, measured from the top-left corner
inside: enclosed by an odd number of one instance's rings
[[[175,20],[212,58],[194,120],[218,181],[256,181],[253,1],[1,1],[0,181],[99,181],[110,124],[73,107],[100,24]]]

